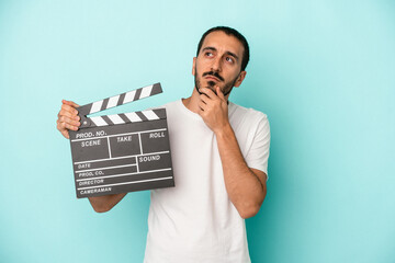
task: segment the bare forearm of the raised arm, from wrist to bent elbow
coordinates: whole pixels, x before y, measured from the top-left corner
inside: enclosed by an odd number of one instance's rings
[[[216,133],[229,199],[242,218],[255,216],[266,196],[266,180],[248,168],[230,125]]]

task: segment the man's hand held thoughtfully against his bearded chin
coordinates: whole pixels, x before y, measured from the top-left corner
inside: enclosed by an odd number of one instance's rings
[[[218,85],[215,87],[215,91],[216,94],[211,89],[201,89],[202,94],[200,94],[199,115],[211,130],[218,134],[223,132],[224,128],[230,127],[230,125],[227,100]]]

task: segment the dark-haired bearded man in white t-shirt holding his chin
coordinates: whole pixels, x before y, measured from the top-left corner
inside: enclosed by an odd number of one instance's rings
[[[145,262],[250,262],[245,218],[267,192],[270,129],[263,113],[228,102],[246,77],[249,47],[237,31],[203,34],[188,99],[165,105],[176,187],[151,191]],[[64,101],[57,128],[80,125],[78,105]],[[90,197],[106,211],[126,194]]]

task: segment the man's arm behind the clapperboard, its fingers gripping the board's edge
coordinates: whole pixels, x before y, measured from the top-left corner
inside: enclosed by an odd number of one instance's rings
[[[56,121],[57,129],[65,138],[69,138],[69,130],[78,130],[81,125],[76,107],[79,105],[72,101],[61,101],[63,105],[58,113],[58,119]],[[98,197],[89,197],[89,202],[93,209],[98,213],[108,211],[113,208],[123,197],[124,194],[103,195]]]

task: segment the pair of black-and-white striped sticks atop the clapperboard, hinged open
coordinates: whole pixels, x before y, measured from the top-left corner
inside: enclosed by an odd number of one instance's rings
[[[142,112],[121,113],[105,116],[87,117],[89,114],[98,113],[111,107],[120,106],[129,102],[138,101],[144,98],[162,93],[160,83],[143,87],[119,95],[110,96],[97,102],[88,103],[77,107],[78,116],[81,118],[80,128],[109,126],[116,124],[135,123],[147,119],[166,118],[162,110],[148,110]]]

